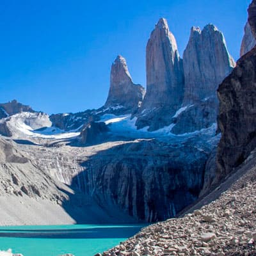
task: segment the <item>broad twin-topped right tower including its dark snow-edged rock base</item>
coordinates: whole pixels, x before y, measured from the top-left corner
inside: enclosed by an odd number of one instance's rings
[[[216,123],[216,90],[235,65],[223,34],[215,26],[207,25],[202,31],[191,29],[183,54],[184,100],[182,111],[178,111],[173,120],[173,133],[193,132]]]

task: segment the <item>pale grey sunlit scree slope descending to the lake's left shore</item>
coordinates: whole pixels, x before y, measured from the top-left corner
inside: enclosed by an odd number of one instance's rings
[[[0,138],[0,180],[1,225],[75,222],[60,206],[71,190],[52,179],[13,141],[3,138]]]

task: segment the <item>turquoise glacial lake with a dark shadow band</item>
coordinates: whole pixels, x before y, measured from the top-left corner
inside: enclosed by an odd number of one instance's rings
[[[0,250],[24,256],[93,256],[134,236],[145,225],[60,225],[0,227]]]

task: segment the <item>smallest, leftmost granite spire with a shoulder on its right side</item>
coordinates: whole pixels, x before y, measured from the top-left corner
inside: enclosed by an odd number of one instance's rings
[[[132,83],[125,58],[117,56],[111,67],[110,88],[105,108],[137,109],[145,94],[140,84]]]

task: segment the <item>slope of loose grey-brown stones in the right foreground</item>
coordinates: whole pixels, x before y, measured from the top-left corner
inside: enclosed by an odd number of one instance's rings
[[[183,218],[143,228],[103,255],[256,255],[256,161],[253,154],[249,158],[198,205],[218,199]]]

